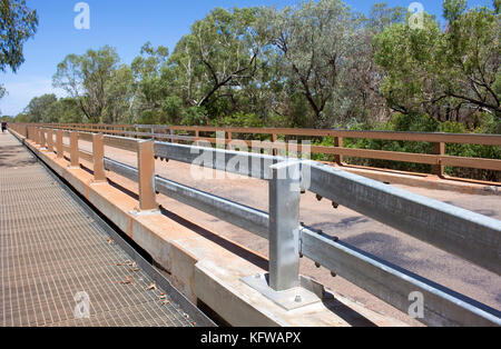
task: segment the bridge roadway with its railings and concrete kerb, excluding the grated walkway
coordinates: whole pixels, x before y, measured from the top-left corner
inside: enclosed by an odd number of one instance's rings
[[[166,288],[187,298],[180,302],[199,321],[204,315],[193,303],[232,326],[501,323],[495,183],[414,181],[425,189],[409,187],[405,176],[384,174],[396,183],[389,186],[353,173],[365,169],[348,172],[283,157],[273,142],[269,154],[183,144],[203,141],[199,130],[179,136],[139,132],[137,126],[11,128],[92,212],[145,251],[156,268],[144,265],[160,270]],[[342,150],[342,136],[332,150],[338,164],[352,151]],[[461,137],[431,141],[468,141]],[[501,143],[499,136],[473,142]],[[411,158],[434,164],[438,177],[452,163],[499,167],[495,159],[451,159],[442,148],[430,158]],[[22,187],[38,180],[19,181]],[[452,187],[462,193],[433,190]],[[420,295],[423,313],[410,318]]]

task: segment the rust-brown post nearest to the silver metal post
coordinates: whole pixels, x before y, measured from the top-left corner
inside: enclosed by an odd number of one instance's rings
[[[155,192],[155,141],[146,140],[137,143],[137,167],[139,170],[139,210],[157,210]]]

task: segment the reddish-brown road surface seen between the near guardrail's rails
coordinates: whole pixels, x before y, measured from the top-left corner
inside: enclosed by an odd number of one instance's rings
[[[91,151],[91,144],[80,141],[80,149]],[[130,166],[137,164],[136,154],[132,152],[110,147],[106,147],[105,152],[106,157],[117,161]],[[196,170],[199,171],[200,169],[197,168]],[[213,173],[213,170],[205,169],[204,171],[205,173]],[[256,209],[268,210],[268,185],[263,180],[234,174],[232,178],[218,179],[217,176],[208,176],[210,179],[195,180],[189,164],[160,160],[156,161],[156,173]],[[115,173],[109,173],[109,178],[137,192],[136,183]],[[501,220],[501,196],[475,196],[415,187],[396,187]],[[163,195],[158,197],[158,201],[165,209],[205,229],[243,245],[262,256],[267,256],[268,253],[267,240],[258,236]],[[324,199],[318,202],[312,192],[306,192],[302,196],[301,220],[310,227],[337,236],[341,240],[376,257],[449,287],[492,308],[501,309],[501,278],[461,258],[344,207],[333,209],[331,201]],[[323,267],[316,268],[314,262],[307,258],[302,259],[301,272],[318,280],[327,289],[336,290],[370,309],[413,326],[420,325],[420,322],[411,319],[407,315],[384,303],[343,278],[333,278],[328,270]]]

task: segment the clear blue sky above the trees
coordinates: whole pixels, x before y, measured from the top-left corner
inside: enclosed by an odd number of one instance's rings
[[[130,63],[146,41],[167,46],[189,32],[190,24],[214,7],[232,8],[275,6],[283,8],[299,0],[86,0],[90,7],[90,29],[77,30],[73,7],[80,0],[27,0],[37,9],[39,28],[35,39],[24,44],[26,62],[13,74],[0,72],[0,83],[8,96],[0,100],[3,114],[21,112],[31,98],[43,93],[63,96],[52,88],[56,66],[69,53],[84,53],[105,44],[117,48],[122,62]],[[369,13],[371,6],[383,0],[345,0],[352,9]],[[409,7],[414,0],[386,0],[389,6]],[[441,0],[420,0],[429,13],[442,16]],[[469,0],[470,7],[491,6],[492,0]]]

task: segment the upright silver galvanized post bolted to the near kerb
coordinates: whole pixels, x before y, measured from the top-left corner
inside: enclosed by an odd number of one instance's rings
[[[299,163],[271,167],[269,287],[284,291],[299,286]]]

